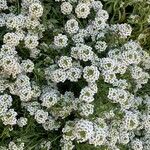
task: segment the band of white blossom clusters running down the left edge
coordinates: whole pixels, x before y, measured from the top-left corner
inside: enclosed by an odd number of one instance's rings
[[[18,125],[24,127],[28,123],[26,117],[18,116],[17,110],[12,108],[13,95],[19,97],[22,102],[30,101],[34,98],[34,88],[31,87],[28,73],[32,73],[34,63],[30,59],[23,59],[19,55],[19,46],[30,50],[30,54],[36,51],[40,39],[39,33],[35,33],[35,28],[41,30],[42,26],[39,18],[43,14],[43,7],[40,1],[22,1],[21,13],[1,13],[0,19],[3,21],[1,27],[6,27],[8,32],[3,37],[3,45],[0,47],[0,120],[4,125]],[[0,2],[0,11],[8,9],[7,1]],[[29,25],[32,26],[29,26]],[[30,56],[29,56],[30,57]],[[10,79],[12,81],[10,81]],[[33,88],[33,89],[32,89]],[[5,90],[9,90],[9,94]],[[22,150],[24,145],[17,146],[11,142],[9,150]]]

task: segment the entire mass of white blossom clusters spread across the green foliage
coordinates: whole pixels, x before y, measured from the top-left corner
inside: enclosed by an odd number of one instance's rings
[[[27,113],[46,133],[62,129],[62,150],[74,149],[76,142],[109,150],[121,150],[119,145],[150,150],[150,97],[137,94],[150,78],[149,53],[138,41],[127,40],[132,33],[129,24],[107,23],[109,14],[100,1],[55,1],[68,20],[64,20],[63,31],[49,33],[55,35],[54,40],[45,45],[58,55],[48,65],[38,47],[44,31],[40,0],[22,0],[18,15],[0,14],[0,27],[8,29],[0,47],[0,121],[23,128],[30,122]],[[7,8],[7,1],[1,0],[0,12]],[[42,85],[36,74],[39,58],[44,66],[38,73],[44,77]],[[99,80],[106,84],[104,89]],[[101,98],[103,90],[105,98]],[[98,101],[104,99],[110,107],[99,106],[105,111],[94,116],[97,93]],[[21,116],[13,101],[19,101]],[[49,139],[39,145],[53,149]],[[24,143],[10,142],[7,147],[0,149],[26,150]]]

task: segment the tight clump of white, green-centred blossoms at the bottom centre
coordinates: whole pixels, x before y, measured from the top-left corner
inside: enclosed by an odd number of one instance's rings
[[[97,118],[94,122],[87,119],[77,119],[68,121],[62,132],[62,141],[67,141],[64,145],[73,144],[73,140],[77,140],[79,143],[88,141],[94,146],[101,146],[107,141],[108,127],[102,118]]]

